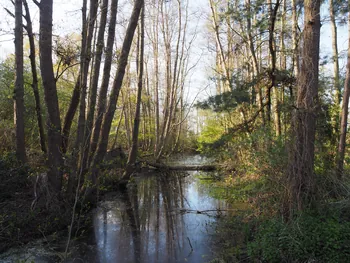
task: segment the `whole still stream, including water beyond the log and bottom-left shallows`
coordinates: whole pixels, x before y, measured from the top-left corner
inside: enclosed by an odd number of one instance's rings
[[[202,165],[199,155],[172,158],[172,165]],[[152,172],[133,178],[126,193],[103,196],[91,231],[73,240],[66,262],[209,262],[215,257],[215,222],[229,210],[210,197],[213,172]],[[62,261],[64,244],[38,240],[0,255],[0,262]],[[45,243],[45,244],[44,244]]]

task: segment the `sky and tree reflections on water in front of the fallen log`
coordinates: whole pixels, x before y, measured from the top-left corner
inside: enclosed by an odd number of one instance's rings
[[[107,197],[94,215],[94,262],[207,262],[216,209],[196,172],[135,178],[124,194]],[[211,212],[201,213],[203,210]],[[92,260],[93,259],[93,260]]]

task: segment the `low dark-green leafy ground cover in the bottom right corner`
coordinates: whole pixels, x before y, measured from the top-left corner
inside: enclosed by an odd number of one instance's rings
[[[248,254],[263,262],[349,262],[350,222],[315,213],[289,223],[267,220],[248,244]]]

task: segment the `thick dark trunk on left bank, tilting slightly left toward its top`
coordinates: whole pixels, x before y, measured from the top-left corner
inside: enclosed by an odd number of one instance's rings
[[[52,63],[52,9],[52,0],[41,0],[39,47],[41,77],[48,113],[48,181],[57,194],[62,188],[63,158],[60,149],[62,143],[60,111]]]

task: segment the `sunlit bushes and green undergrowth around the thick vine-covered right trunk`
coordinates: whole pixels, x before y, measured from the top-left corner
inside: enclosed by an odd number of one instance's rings
[[[288,154],[281,139],[260,130],[222,151],[226,175],[211,193],[249,209],[219,222],[213,262],[350,262],[350,182],[337,179],[324,147],[318,150],[315,205],[292,218],[283,216]]]

